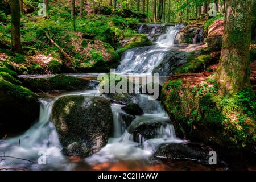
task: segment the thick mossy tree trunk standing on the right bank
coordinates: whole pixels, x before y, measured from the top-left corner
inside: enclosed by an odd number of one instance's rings
[[[226,0],[225,29],[217,69],[221,95],[250,86],[251,9],[254,0]]]

